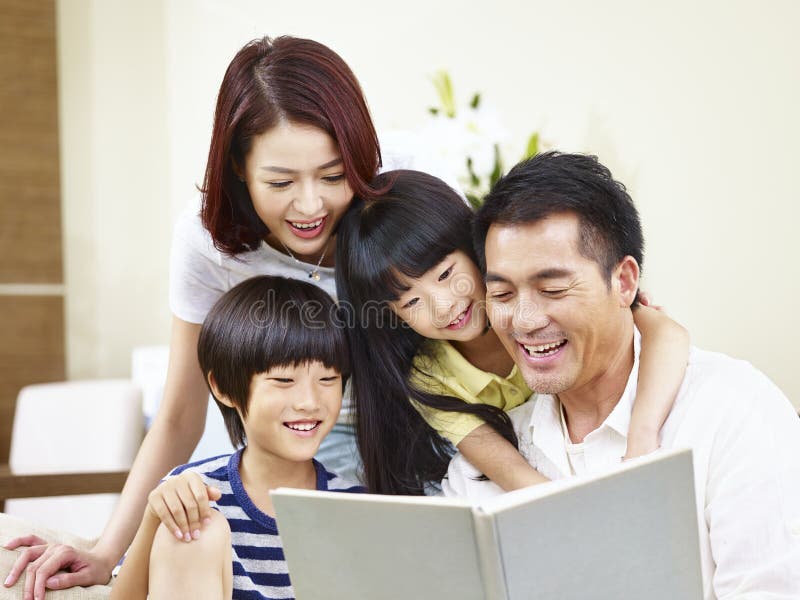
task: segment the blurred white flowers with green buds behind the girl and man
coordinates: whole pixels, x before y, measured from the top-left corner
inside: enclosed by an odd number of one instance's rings
[[[446,71],[439,71],[433,77],[433,85],[439,106],[428,109],[430,119],[423,127],[423,136],[456,174],[465,196],[477,208],[504,173],[501,147],[509,139],[508,131],[497,111],[483,102],[480,93],[473,94],[467,105],[458,107]],[[539,134],[534,132],[520,160],[538,152]]]

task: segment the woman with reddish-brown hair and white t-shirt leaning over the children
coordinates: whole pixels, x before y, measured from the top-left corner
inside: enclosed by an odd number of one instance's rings
[[[281,37],[256,40],[236,54],[217,98],[202,206],[175,229],[169,369],[158,414],[91,552],[48,547],[32,536],[12,540],[9,549],[33,547],[20,554],[6,585],[28,563],[37,589],[109,580],[147,494],[189,458],[203,433],[208,390],[195,349],[208,310],[226,290],[261,274],[309,281],[333,295],[336,225],[353,193],[373,193],[369,182],[380,165],[361,88],[336,53]],[[355,469],[347,402],[321,456],[342,474]]]

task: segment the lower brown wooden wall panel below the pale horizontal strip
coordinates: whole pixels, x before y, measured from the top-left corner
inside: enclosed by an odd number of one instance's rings
[[[0,332],[0,463],[6,463],[19,390],[65,377],[63,299],[0,296]]]

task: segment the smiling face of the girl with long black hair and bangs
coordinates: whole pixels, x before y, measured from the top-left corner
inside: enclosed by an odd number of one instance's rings
[[[468,342],[486,329],[486,290],[480,271],[461,250],[419,279],[401,276],[409,289],[392,310],[420,335],[434,340]]]

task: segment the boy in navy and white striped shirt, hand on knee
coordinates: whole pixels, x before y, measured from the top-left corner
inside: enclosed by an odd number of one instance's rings
[[[269,491],[363,489],[313,458],[336,423],[349,369],[336,307],[309,283],[254,277],[211,309],[197,354],[242,449],[177,467],[151,492],[111,598],[293,598]],[[210,495],[219,512],[185,544],[170,510],[191,511],[196,495]]]

